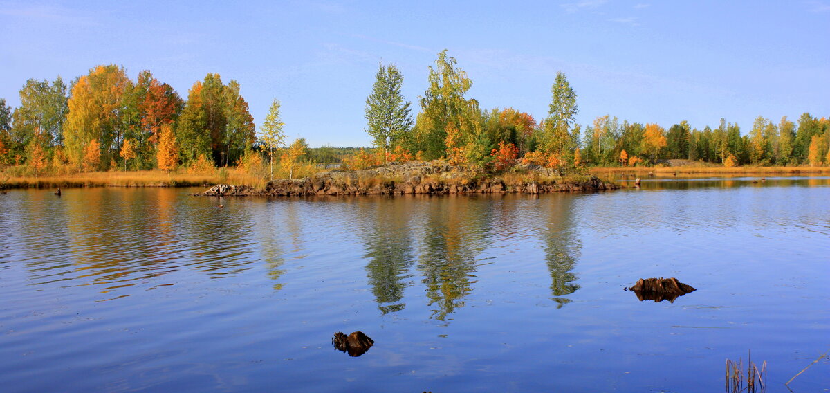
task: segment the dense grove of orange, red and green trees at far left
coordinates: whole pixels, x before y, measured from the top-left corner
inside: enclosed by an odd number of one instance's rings
[[[198,160],[233,165],[255,143],[237,81],[196,81],[183,100],[150,71],[96,66],[69,86],[30,79],[12,111],[0,99],[0,164],[47,169],[173,169]]]

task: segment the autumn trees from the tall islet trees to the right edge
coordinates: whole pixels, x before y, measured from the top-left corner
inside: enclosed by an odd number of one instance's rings
[[[798,125],[787,117],[776,124],[759,116],[746,135],[724,119],[714,129],[693,129],[683,120],[666,130],[603,115],[583,127],[575,121],[577,95],[558,72],[549,111],[537,122],[513,108],[482,111],[478,101],[465,96],[472,81],[445,50],[429,67],[413,125],[410,103],[400,93],[402,82],[395,66],[381,65],[366,103],[366,130],[385,160],[446,158],[496,169],[519,161],[551,167],[652,165],[671,159],[725,166],[830,164],[830,120],[809,113]]]

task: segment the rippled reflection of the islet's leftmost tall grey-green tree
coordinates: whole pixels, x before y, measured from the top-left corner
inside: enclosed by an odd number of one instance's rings
[[[404,282],[412,277],[408,274],[414,262],[413,239],[409,233],[407,209],[411,200],[374,200],[361,204],[359,217],[366,219],[362,225],[366,239],[366,253],[369,258],[366,273],[372,287],[375,301],[381,313],[398,312],[406,307],[403,291],[412,285]]]

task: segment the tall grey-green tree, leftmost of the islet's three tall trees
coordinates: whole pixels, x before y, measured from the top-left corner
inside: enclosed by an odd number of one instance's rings
[[[372,93],[366,99],[366,132],[373,144],[383,150],[384,157],[390,148],[401,145],[412,129],[412,115],[408,101],[401,94],[403,75],[394,65],[378,65]]]

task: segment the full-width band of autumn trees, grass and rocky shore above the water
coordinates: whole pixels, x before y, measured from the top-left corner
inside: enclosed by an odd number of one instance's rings
[[[214,73],[194,82],[186,97],[150,71],[131,79],[116,65],[95,66],[69,84],[60,76],[30,79],[17,108],[0,98],[0,188],[235,184],[251,194],[547,192],[604,184],[586,185],[591,174],[821,174],[830,165],[828,117],[804,113],[797,123],[786,116],[774,123],[759,116],[745,133],[725,119],[703,130],[686,120],[666,130],[612,115],[580,125],[576,91],[559,71],[549,111],[537,120],[511,107],[481,107],[467,96],[473,82],[457,64],[446,49],[438,52],[415,105],[403,96],[398,67],[379,64],[370,90],[367,83],[370,149],[290,142],[291,125],[282,121],[276,98],[257,126],[239,83]],[[390,162],[420,164],[397,174]],[[325,172],[331,165],[339,170]],[[436,166],[443,169],[424,169]],[[320,182],[327,185],[320,189]],[[418,191],[424,184],[432,189]]]

